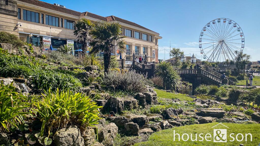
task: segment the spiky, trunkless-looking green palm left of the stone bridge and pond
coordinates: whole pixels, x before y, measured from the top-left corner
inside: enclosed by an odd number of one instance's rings
[[[163,87],[166,90],[179,90],[181,87],[181,78],[173,69],[171,63],[161,62],[157,64],[155,75],[162,78]]]

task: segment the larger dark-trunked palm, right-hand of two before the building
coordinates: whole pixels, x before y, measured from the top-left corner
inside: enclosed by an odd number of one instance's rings
[[[89,53],[97,53],[98,51],[104,53],[105,73],[108,72],[111,53],[114,52],[114,49],[117,48],[119,52],[124,52],[126,49],[126,42],[123,40],[125,36],[120,36],[121,33],[121,25],[118,22],[108,23],[105,21],[97,21],[89,32],[92,37],[89,43],[92,50]]]

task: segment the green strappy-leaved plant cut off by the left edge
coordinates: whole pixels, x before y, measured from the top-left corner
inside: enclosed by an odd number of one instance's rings
[[[27,97],[15,92],[12,84],[0,83],[0,131],[9,131],[12,126],[18,128],[18,122],[24,122],[23,115],[28,114],[23,110],[30,107]]]

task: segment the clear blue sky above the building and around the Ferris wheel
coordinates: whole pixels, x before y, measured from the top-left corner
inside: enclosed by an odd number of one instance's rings
[[[169,46],[179,47],[185,55],[201,56],[199,34],[204,25],[216,18],[238,23],[245,36],[244,53],[260,60],[260,1],[258,0],[43,0],[66,8],[101,16],[114,15],[160,33],[159,59],[169,58]],[[200,57],[199,57],[200,58]]]

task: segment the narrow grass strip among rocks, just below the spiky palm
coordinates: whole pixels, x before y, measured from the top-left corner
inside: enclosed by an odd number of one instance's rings
[[[193,101],[193,98],[185,96],[183,94],[175,94],[171,92],[166,92],[158,89],[154,89],[157,92],[158,97],[169,98],[169,99],[180,99],[181,101]]]

